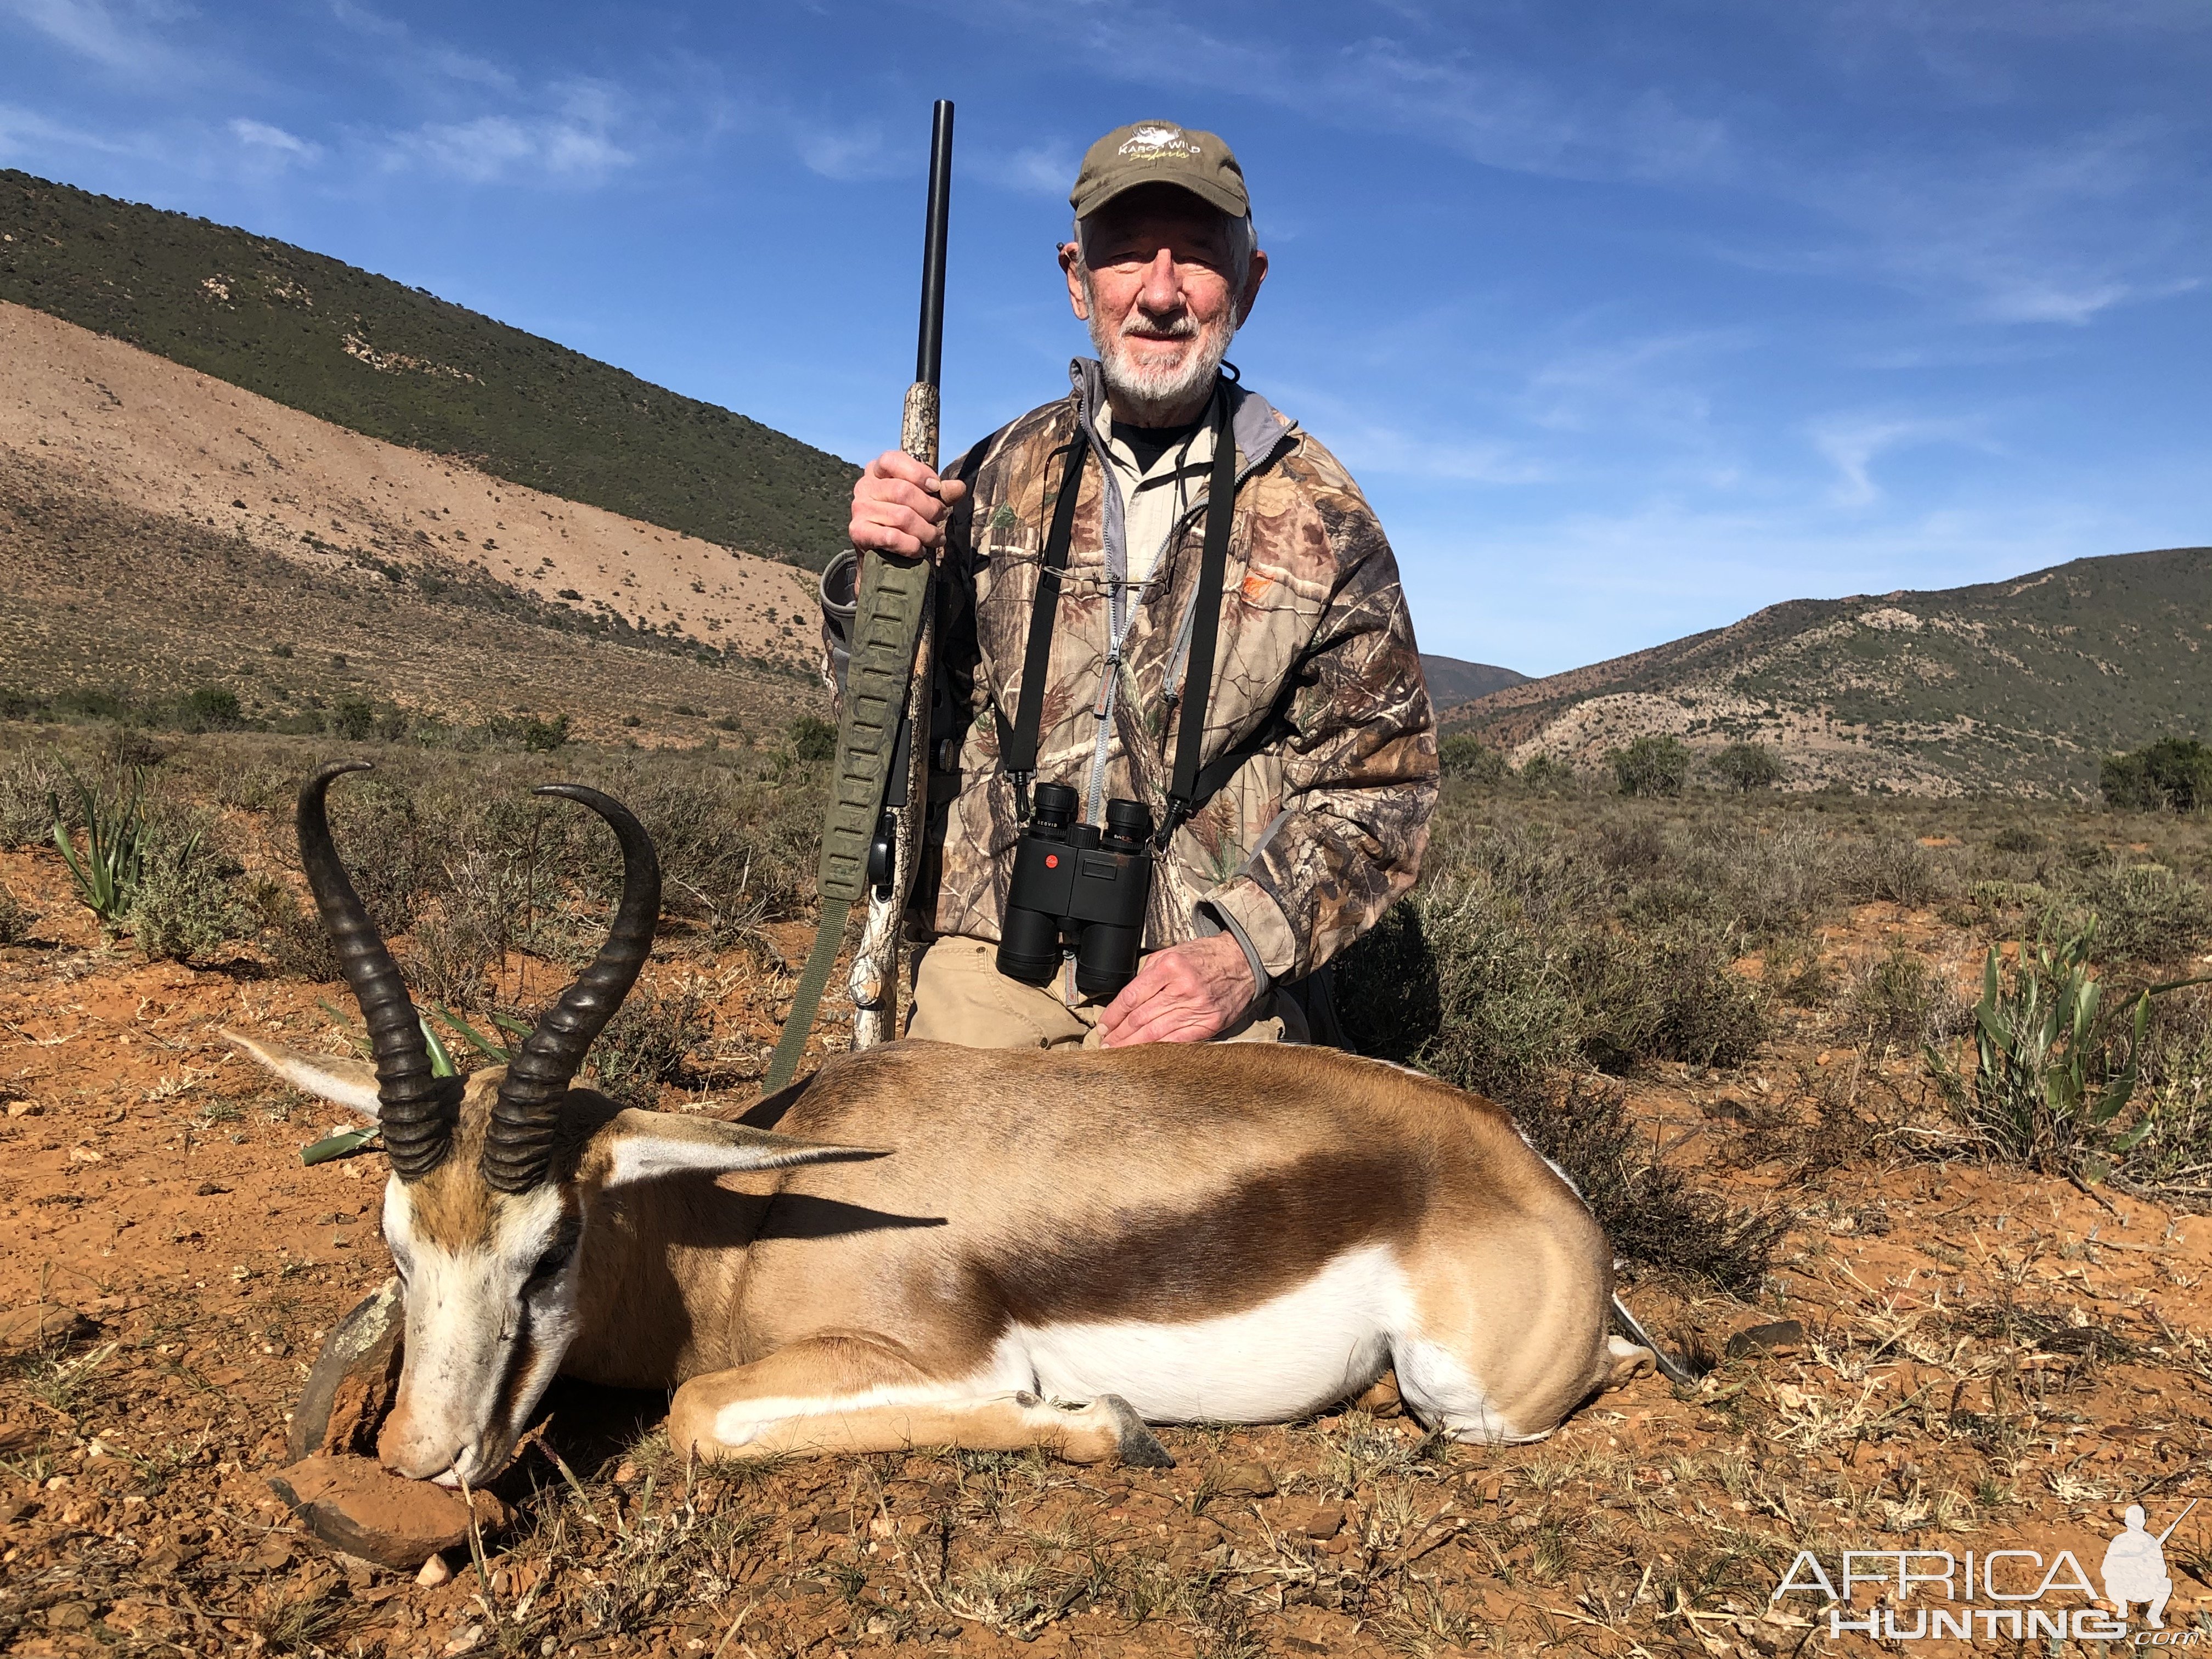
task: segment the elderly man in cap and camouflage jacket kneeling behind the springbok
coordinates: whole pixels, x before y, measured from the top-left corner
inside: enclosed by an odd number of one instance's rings
[[[1243,170],[1212,133],[1139,122],[1084,157],[1060,248],[1099,361],[1073,392],[984,438],[945,476],[889,451],[854,484],[852,542],[940,555],[931,858],[907,1035],[971,1046],[1305,1040],[1290,989],[1418,874],[1436,803],[1436,717],[1398,566],[1358,487],[1312,436],[1221,374],[1267,276]],[[1214,672],[1186,686],[1214,440],[1234,511]],[[1166,814],[1181,703],[1206,697],[1203,763],[1225,783],[1157,860],[1148,953],[1117,995],[1073,971],[995,969],[1029,814],[1009,776],[1024,650],[1053,509],[1082,453],[1035,732],[1035,783]],[[832,672],[852,557],[823,582]]]

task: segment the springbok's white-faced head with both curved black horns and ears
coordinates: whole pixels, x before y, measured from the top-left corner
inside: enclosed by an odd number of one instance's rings
[[[288,1082],[376,1119],[392,1155],[385,1241],[407,1301],[398,1400],[378,1455],[414,1480],[480,1482],[507,1464],[575,1336],[577,1274],[606,1192],[679,1172],[770,1170],[876,1157],[571,1088],[593,1037],[637,982],[661,909],[653,841],[615,799],[549,783],[622,843],[622,902],[597,960],[544,1011],[507,1066],[467,1082],[431,1068],[407,984],[338,863],[325,792],[367,761],[336,761],[299,796],[299,854],[369,1029],[374,1062],[226,1033]]]

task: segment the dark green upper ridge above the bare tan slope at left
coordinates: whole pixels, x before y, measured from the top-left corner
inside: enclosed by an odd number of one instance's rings
[[[515,484],[821,568],[856,469],[283,241],[0,170],[0,301]]]

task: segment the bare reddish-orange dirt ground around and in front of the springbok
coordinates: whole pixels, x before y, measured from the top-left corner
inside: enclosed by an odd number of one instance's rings
[[[1694,1389],[1646,1378],[1509,1449],[1369,1400],[1170,1429],[1159,1473],[918,1451],[726,1475],[668,1458],[659,1398],[557,1385],[507,1478],[520,1520],[425,1586],[334,1557],[268,1486],[321,1336],[387,1274],[385,1166],[303,1168],[338,1113],[217,1026],[338,1048],[319,998],[343,991],[146,964],[51,854],[0,880],[44,914],[0,949],[0,1305],[82,1316],[18,1321],[0,1360],[7,1652],[1854,1652],[1823,1597],[1770,1608],[1796,1551],[1834,1575],[1845,1548],[2068,1548],[2095,1573],[2126,1502],[2161,1528],[2208,1486],[2212,1219],[1882,1148],[1772,1157],[1823,1093],[1909,1097],[1918,1066],[1783,1009],[1752,1066],[1630,1084],[1670,1157],[1796,1217],[1756,1305],[1628,1285],[1719,1360]],[[1880,905],[1825,951],[1898,940],[1960,987],[1980,967]],[[732,1040],[765,1037],[781,980],[719,984]],[[1801,1340],[1723,1358],[1772,1321]],[[2208,1540],[2197,1511],[2166,1546],[2168,1626],[2212,1626]]]

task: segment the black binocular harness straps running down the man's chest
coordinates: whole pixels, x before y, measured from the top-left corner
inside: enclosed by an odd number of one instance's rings
[[[1060,611],[1060,580],[1068,568],[1068,542],[1075,535],[1075,493],[1084,473],[1084,456],[1091,449],[1088,436],[1077,429],[1068,438],[1068,462],[1060,473],[1060,498],[1053,502],[1053,529],[1044,538],[1044,557],[1037,564],[1037,597],[1029,608],[1029,644],[1022,650],[1022,695],[1015,703],[1013,726],[1000,717],[1000,763],[1013,779],[1013,799],[1020,816],[1029,818],[1029,785],[1037,776],[1037,728],[1044,721],[1044,677],[1053,661],[1053,619]],[[1214,639],[1221,633],[1221,580],[1230,562],[1230,524],[1237,515],[1237,440],[1230,436],[1230,400],[1221,396],[1214,416],[1214,471],[1206,495],[1206,544],[1199,553],[1199,593],[1190,628],[1190,657],[1183,668],[1183,708],[1175,734],[1175,774],[1168,783],[1168,810],[1161,818],[1152,845],[1166,852],[1175,832],[1188,823],[1206,801],[1228,783],[1237,765],[1254,752],[1239,745],[1221,761],[1199,768],[1199,748],[1206,741],[1206,703],[1214,686]],[[1108,672],[1113,672],[1108,668]],[[1175,688],[1168,688],[1175,695]]]

